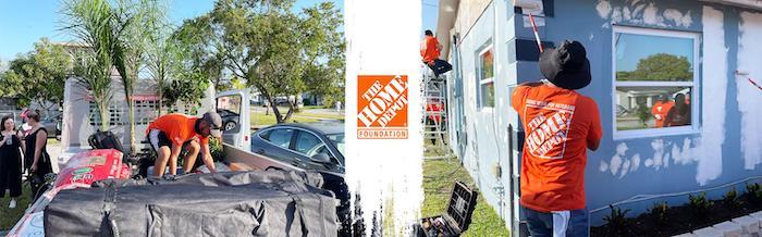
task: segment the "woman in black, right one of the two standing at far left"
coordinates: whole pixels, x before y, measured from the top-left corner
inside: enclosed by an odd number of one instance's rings
[[[50,163],[50,155],[48,154],[48,130],[45,129],[42,124],[39,123],[39,114],[36,112],[29,112],[26,114],[27,123],[32,126],[32,132],[29,135],[24,137],[24,155],[30,161],[28,165],[32,177],[32,198],[37,199],[41,194],[39,189],[45,183],[45,175],[52,173],[53,169]]]

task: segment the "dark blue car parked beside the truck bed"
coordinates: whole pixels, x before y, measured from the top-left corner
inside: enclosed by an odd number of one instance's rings
[[[278,124],[251,135],[251,152],[305,170],[344,174],[344,124]]]

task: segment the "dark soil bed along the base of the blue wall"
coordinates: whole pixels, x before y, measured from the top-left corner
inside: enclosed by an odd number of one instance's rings
[[[657,221],[659,219],[651,212],[646,212],[636,217],[626,219],[625,226],[619,229],[609,225],[591,227],[590,236],[674,236],[762,211],[762,200],[753,201],[747,194],[741,195],[738,200],[737,204],[713,200],[714,205],[703,212],[690,207],[689,203],[671,207],[662,221]]]

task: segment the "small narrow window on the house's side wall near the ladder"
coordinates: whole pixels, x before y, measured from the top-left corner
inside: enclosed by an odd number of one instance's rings
[[[479,51],[477,62],[477,82],[479,83],[478,104],[480,109],[494,108],[494,54],[492,53],[492,42],[488,41]]]

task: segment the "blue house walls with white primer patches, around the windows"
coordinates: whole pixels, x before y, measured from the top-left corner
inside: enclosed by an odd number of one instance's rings
[[[509,1],[508,1],[509,2]],[[611,203],[634,197],[674,194],[712,188],[762,174],[762,91],[736,71],[762,78],[762,14],[734,7],[699,1],[576,0],[553,1],[554,15],[539,18],[540,37],[558,42],[574,39],[587,48],[593,82],[580,93],[593,98],[601,112],[604,134],[601,148],[588,152],[586,188],[592,225],[602,224]],[[462,3],[464,4],[464,3]],[[492,1],[459,46],[464,80],[468,144],[464,164],[471,172],[487,200],[503,217],[507,191],[493,191],[508,185],[507,126],[518,125],[508,105],[508,86],[541,78],[537,62],[507,63],[506,42],[533,35],[521,15],[514,15],[505,1]],[[457,25],[458,23],[456,23]],[[495,24],[495,25],[491,25]],[[699,34],[696,102],[697,130],[673,135],[617,138],[614,135],[614,88],[612,34],[614,25],[657,28]],[[465,34],[465,33],[462,33]],[[492,38],[495,53],[495,109],[476,108],[476,53]],[[452,54],[451,54],[452,55]],[[757,66],[755,66],[757,65]],[[516,76],[517,75],[517,76]],[[518,79],[517,79],[518,78]],[[452,84],[451,84],[452,85]],[[453,88],[454,89],[454,88]],[[704,99],[701,99],[704,98]],[[453,103],[450,103],[453,107]],[[757,105],[755,105],[757,104]],[[455,118],[454,115],[451,117]],[[455,124],[455,123],[451,123]],[[451,125],[452,126],[452,125]],[[452,136],[452,135],[451,135]],[[453,138],[453,141],[457,141]],[[454,147],[455,144],[453,144]],[[494,178],[494,164],[503,166]],[[718,198],[727,189],[710,191]],[[501,195],[503,198],[501,199]],[[623,204],[630,215],[642,213],[655,201],[681,204],[687,196],[653,198]]]

